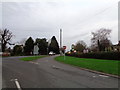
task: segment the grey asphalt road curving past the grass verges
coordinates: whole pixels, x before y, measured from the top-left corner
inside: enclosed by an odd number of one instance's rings
[[[3,88],[118,88],[118,79],[81,70],[54,60],[55,56],[35,61],[7,57],[2,61]]]

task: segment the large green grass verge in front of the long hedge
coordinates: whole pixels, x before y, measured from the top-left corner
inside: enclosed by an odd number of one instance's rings
[[[120,61],[76,58],[70,56],[66,56],[66,60],[64,60],[63,56],[58,56],[55,57],[55,60],[82,68],[120,76],[120,73],[118,73],[118,63],[120,63]]]

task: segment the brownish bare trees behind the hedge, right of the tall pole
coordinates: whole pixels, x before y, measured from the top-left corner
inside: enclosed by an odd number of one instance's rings
[[[110,29],[101,28],[96,32],[92,32],[91,47],[88,48],[86,43],[81,40],[74,45],[74,49],[78,52],[83,52],[85,49],[94,52],[105,51],[107,47],[112,45],[112,42],[110,41],[110,33]],[[71,51],[73,50],[71,49]]]

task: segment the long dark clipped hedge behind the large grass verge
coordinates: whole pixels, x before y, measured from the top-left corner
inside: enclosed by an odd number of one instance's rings
[[[120,52],[92,52],[92,53],[66,53],[67,56],[74,56],[79,58],[95,58],[95,59],[108,59],[120,60]]]

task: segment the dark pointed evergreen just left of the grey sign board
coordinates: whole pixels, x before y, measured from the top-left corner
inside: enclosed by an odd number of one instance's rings
[[[32,37],[29,37],[25,42],[24,53],[26,55],[30,55],[31,53],[33,53],[33,48],[34,48],[34,41]]]

